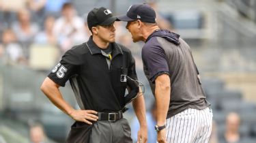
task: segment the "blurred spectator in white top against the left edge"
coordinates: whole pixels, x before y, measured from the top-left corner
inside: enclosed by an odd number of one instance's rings
[[[26,63],[23,50],[16,40],[16,35],[11,29],[3,31],[3,45],[0,48],[0,59],[5,63]]]

